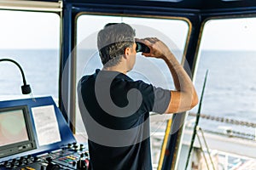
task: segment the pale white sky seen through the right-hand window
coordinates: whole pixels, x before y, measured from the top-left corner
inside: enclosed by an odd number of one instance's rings
[[[256,50],[256,18],[210,20],[201,44],[203,49]]]

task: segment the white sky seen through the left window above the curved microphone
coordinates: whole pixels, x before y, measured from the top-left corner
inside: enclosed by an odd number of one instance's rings
[[[0,49],[59,47],[59,15],[0,10]]]

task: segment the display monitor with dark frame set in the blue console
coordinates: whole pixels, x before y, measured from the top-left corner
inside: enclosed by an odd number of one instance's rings
[[[36,149],[26,105],[0,108],[0,158]]]

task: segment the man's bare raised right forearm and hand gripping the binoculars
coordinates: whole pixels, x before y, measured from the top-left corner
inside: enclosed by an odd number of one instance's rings
[[[164,59],[172,73],[176,89],[171,90],[171,100],[166,113],[189,111],[197,105],[198,97],[193,82],[166,44],[156,37],[148,37],[139,41],[150,48],[150,53],[143,53],[144,56]]]

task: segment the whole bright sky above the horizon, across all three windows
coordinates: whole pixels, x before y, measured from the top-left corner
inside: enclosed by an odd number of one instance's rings
[[[183,20],[82,15],[78,20],[79,42],[93,36],[108,22],[136,27],[138,37],[162,37],[172,48],[183,50],[189,26]],[[51,13],[0,10],[0,49],[59,48],[60,17]],[[210,20],[202,34],[201,49],[255,50],[256,18]]]

